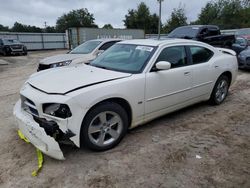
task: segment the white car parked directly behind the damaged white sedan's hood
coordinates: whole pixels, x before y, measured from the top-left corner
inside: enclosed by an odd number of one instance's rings
[[[67,54],[55,55],[42,59],[38,65],[37,71],[68,65],[72,66],[79,63],[87,64],[95,59],[100,53],[119,41],[121,41],[121,39],[95,39],[86,41]]]

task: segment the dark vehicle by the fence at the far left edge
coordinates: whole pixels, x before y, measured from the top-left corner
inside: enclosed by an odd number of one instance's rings
[[[15,39],[0,39],[0,54],[4,56],[12,54],[27,55],[27,47]]]

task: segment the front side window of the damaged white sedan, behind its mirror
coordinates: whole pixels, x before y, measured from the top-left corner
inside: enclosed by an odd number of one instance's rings
[[[168,47],[162,50],[156,62],[168,61],[171,68],[187,65],[187,55],[184,46]]]

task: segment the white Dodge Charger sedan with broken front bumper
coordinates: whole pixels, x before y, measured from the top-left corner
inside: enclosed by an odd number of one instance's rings
[[[116,43],[90,65],[33,74],[14,107],[18,129],[64,159],[61,141],[107,150],[128,129],[209,100],[221,104],[237,74],[235,52],[184,40]]]

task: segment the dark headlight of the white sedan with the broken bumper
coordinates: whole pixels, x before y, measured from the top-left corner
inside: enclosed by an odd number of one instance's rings
[[[59,103],[46,103],[43,104],[43,112],[45,114],[59,117],[59,118],[68,118],[71,117],[71,111],[66,104],[59,104]]]

